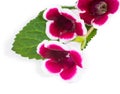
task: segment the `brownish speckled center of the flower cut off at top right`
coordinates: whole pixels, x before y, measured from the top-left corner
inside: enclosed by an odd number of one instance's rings
[[[91,12],[93,15],[103,15],[107,12],[107,3],[105,1],[100,1],[97,3],[94,3],[91,6]]]

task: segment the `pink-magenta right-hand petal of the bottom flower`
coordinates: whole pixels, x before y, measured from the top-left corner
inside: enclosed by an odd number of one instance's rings
[[[72,58],[73,62],[75,62],[79,67],[82,68],[82,57],[79,52],[70,51],[70,57]]]

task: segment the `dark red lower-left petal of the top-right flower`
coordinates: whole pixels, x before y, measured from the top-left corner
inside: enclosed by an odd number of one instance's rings
[[[89,12],[80,13],[80,17],[81,17],[81,19],[84,20],[84,22],[86,24],[91,24],[92,20],[94,19],[94,17],[92,15],[90,15]]]

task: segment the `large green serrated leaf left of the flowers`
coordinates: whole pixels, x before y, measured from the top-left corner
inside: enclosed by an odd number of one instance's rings
[[[45,34],[46,21],[43,19],[43,12],[41,11],[16,35],[12,50],[17,54],[29,59],[41,59],[36,52],[37,46],[43,40],[48,40]]]

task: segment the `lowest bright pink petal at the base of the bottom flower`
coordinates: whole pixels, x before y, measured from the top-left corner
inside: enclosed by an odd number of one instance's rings
[[[60,76],[64,80],[69,80],[75,75],[76,70],[77,70],[76,66],[73,66],[73,67],[67,68],[67,69],[63,69],[63,71],[60,73]]]

